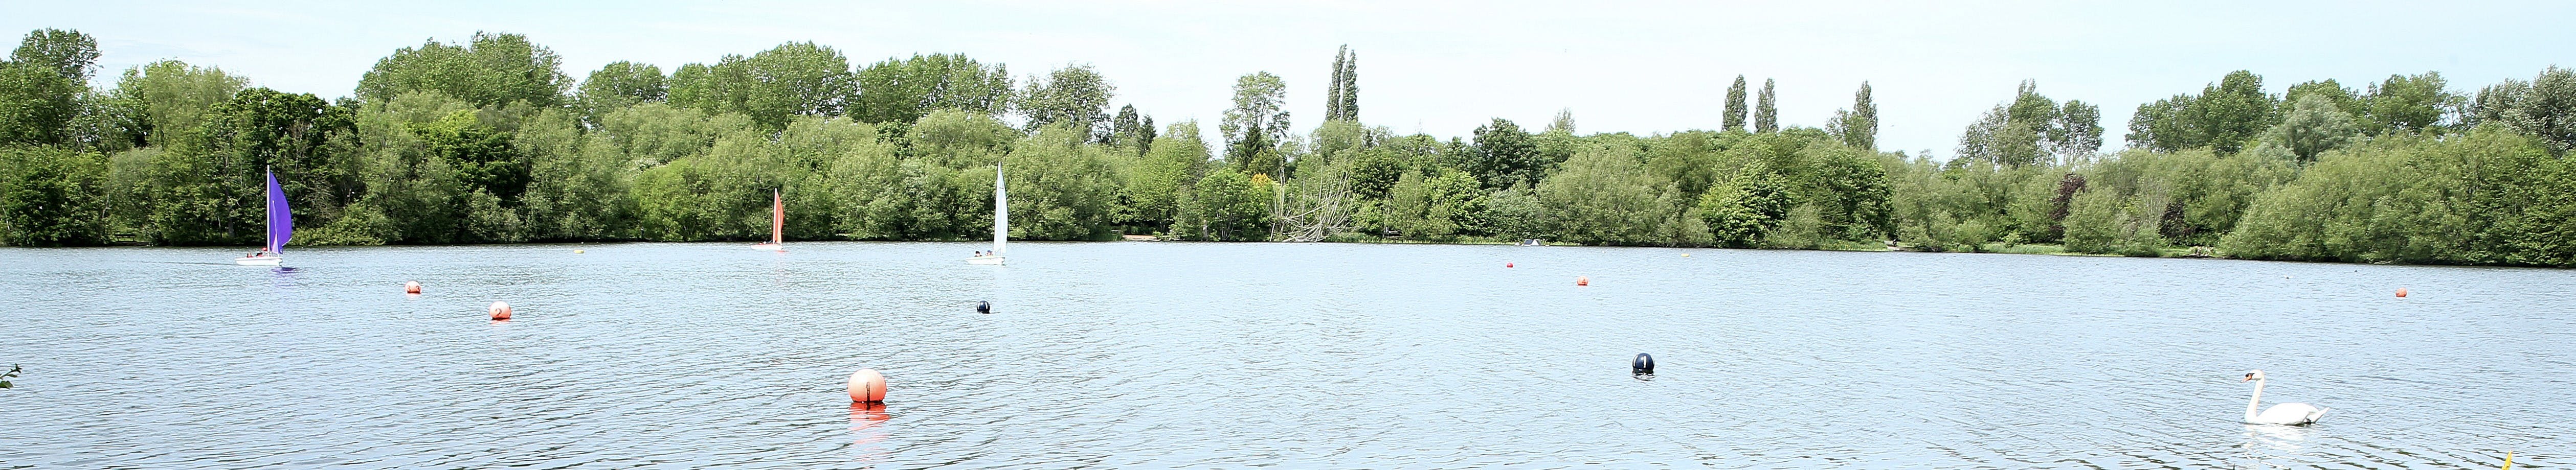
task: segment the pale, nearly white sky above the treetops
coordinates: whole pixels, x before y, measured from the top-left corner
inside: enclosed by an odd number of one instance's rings
[[[1783,126],[1824,126],[1870,82],[1880,149],[1953,154],[1958,134],[2035,80],[2102,108],[2107,146],[2128,116],[2226,72],[2269,92],[2442,72],[2455,92],[2576,64],[2576,3],[31,3],[0,0],[0,31],[98,39],[100,87],[180,59],[255,87],[353,95],[376,59],[477,31],[526,33],[564,72],[608,62],[665,72],[786,41],[855,67],[966,54],[1028,74],[1092,64],[1157,123],[1213,131],[1249,72],[1288,82],[1298,131],[1321,123],[1337,46],[1358,51],[1360,121],[1468,136],[1492,118],[1577,131],[1718,128],[1726,85],[1777,82]],[[1211,136],[1213,139],[1213,136]]]

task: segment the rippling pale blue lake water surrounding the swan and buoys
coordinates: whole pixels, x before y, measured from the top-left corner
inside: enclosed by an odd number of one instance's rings
[[[2568,270],[971,249],[0,249],[0,365],[28,370],[0,390],[0,467],[2576,462]],[[860,367],[884,411],[850,406]],[[2331,411],[2239,424],[2257,367],[2267,406]]]

